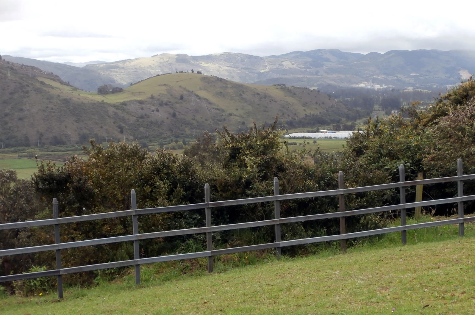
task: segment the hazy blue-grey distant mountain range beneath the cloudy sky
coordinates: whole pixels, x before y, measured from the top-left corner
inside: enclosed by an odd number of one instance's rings
[[[391,50],[385,54],[338,49],[295,51],[279,56],[220,53],[207,56],[161,54],[110,63],[88,62],[82,68],[22,57],[5,60],[53,72],[86,91],[110,83],[128,86],[156,74],[201,71],[239,83],[302,87],[375,85],[431,88],[452,85],[475,74],[475,51]],[[77,64],[79,65],[79,64]]]

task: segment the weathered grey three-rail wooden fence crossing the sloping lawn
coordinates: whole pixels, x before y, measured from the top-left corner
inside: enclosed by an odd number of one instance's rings
[[[135,191],[132,190],[131,192],[132,209],[131,210],[109,212],[109,213],[88,214],[88,215],[65,217],[65,218],[59,218],[57,200],[56,198],[54,198],[53,199],[53,219],[27,221],[27,222],[2,223],[0,224],[0,230],[54,225],[55,244],[16,248],[16,249],[7,249],[7,250],[2,249],[0,250],[0,257],[7,256],[7,255],[28,254],[28,253],[47,251],[47,250],[56,250],[56,269],[0,276],[0,282],[14,281],[14,280],[28,279],[28,278],[37,278],[37,277],[57,276],[58,296],[59,298],[62,298],[63,297],[62,275],[70,274],[70,273],[107,269],[107,268],[116,268],[116,267],[135,266],[135,283],[139,284],[141,264],[178,260],[178,259],[192,259],[192,258],[199,258],[199,257],[208,257],[208,272],[212,272],[213,271],[213,256],[216,256],[216,255],[275,248],[276,255],[279,256],[281,254],[281,248],[285,246],[309,244],[309,243],[323,242],[323,241],[338,241],[338,240],[341,241],[342,250],[345,250],[347,239],[362,237],[362,236],[378,235],[378,234],[384,234],[384,233],[390,233],[390,232],[401,232],[401,242],[405,244],[407,230],[458,223],[459,235],[463,236],[464,222],[475,221],[475,217],[464,217],[464,202],[475,200],[475,195],[467,195],[467,196],[463,195],[463,181],[475,179],[475,174],[463,175],[462,161],[460,159],[457,160],[457,176],[432,178],[432,179],[415,180],[415,181],[406,182],[404,180],[405,179],[404,166],[400,165],[399,178],[400,178],[399,183],[390,183],[390,184],[355,187],[355,188],[344,188],[343,173],[340,172],[338,176],[339,189],[337,190],[279,195],[279,182],[276,177],[274,179],[274,195],[273,196],[237,199],[237,200],[228,200],[228,201],[216,201],[216,202],[210,201],[209,185],[206,184],[204,203],[175,205],[175,206],[168,206],[168,207],[146,208],[146,209],[137,209]],[[428,185],[428,184],[455,182],[455,181],[457,182],[457,188],[458,188],[457,197],[415,202],[415,203],[409,203],[409,204],[406,203],[405,189],[408,186]],[[369,192],[369,191],[374,191],[374,190],[383,190],[383,189],[391,189],[391,188],[399,188],[400,204],[387,205],[387,206],[381,206],[381,207],[372,207],[372,208],[365,208],[365,209],[351,210],[351,211],[345,210],[344,196],[347,194]],[[288,218],[280,217],[280,202],[283,200],[323,197],[323,196],[338,196],[339,211],[335,213],[312,214],[312,215],[304,215],[304,216],[288,217]],[[274,202],[275,219],[265,220],[265,221],[217,225],[217,226],[211,225],[211,208],[226,207],[226,206],[233,206],[233,205],[240,205],[240,204],[262,203],[262,202]],[[437,204],[454,204],[454,203],[458,204],[458,218],[457,219],[406,225],[406,209],[421,207],[421,206],[431,206],[431,205],[437,205]],[[139,233],[139,229],[138,229],[139,215],[150,214],[150,213],[188,211],[188,210],[203,209],[203,208],[205,209],[205,214],[206,214],[205,227],[172,230],[172,231],[151,232],[151,233]],[[347,216],[369,214],[369,213],[380,213],[380,212],[393,211],[393,210],[400,210],[401,226],[383,228],[383,229],[378,229],[378,230],[370,230],[370,231],[353,232],[353,233],[346,233],[345,231],[345,227],[346,227],[345,218]],[[117,218],[117,217],[124,217],[124,216],[132,216],[132,222],[133,222],[132,235],[60,243],[60,238],[59,238],[60,224],[71,223],[71,222],[83,222],[83,221],[89,221],[89,220]],[[312,238],[305,238],[305,239],[298,239],[298,240],[291,240],[291,241],[281,241],[281,232],[280,232],[281,224],[291,223],[291,222],[304,222],[304,221],[310,221],[310,220],[330,219],[330,218],[340,218],[340,234],[312,237]],[[213,242],[212,242],[213,232],[233,230],[233,229],[252,228],[252,227],[261,227],[261,226],[268,226],[268,225],[274,225],[275,227],[276,236],[275,236],[275,242],[273,243],[213,250]],[[158,256],[158,257],[151,257],[151,258],[140,258],[140,247],[139,247],[140,240],[161,238],[161,237],[167,237],[167,236],[188,235],[188,234],[196,234],[196,233],[206,233],[206,240],[207,240],[206,251],[177,254],[177,255]],[[101,264],[95,264],[95,265],[87,265],[87,266],[61,268],[61,250],[82,247],[82,246],[92,246],[92,245],[109,244],[109,243],[115,243],[115,242],[123,242],[123,241],[133,241],[134,259],[101,263]]]

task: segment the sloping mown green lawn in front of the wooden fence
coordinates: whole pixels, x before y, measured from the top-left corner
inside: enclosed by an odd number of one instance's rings
[[[409,222],[432,220],[424,217]],[[409,223],[408,222],[408,223]],[[396,223],[397,224],[397,223]],[[223,273],[163,278],[142,266],[91,289],[2,298],[0,313],[24,314],[472,314],[475,309],[474,224],[372,238],[337,254],[337,243],[310,257],[266,259]],[[321,247],[322,249],[323,247]],[[155,277],[154,277],[155,276]]]

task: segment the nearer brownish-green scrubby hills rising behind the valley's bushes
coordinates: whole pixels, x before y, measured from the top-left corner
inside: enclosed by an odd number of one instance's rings
[[[0,61],[4,146],[86,143],[87,139],[195,138],[253,120],[290,127],[353,121],[368,113],[308,88],[251,85],[215,76],[152,77],[120,93],[85,92],[38,68]]]

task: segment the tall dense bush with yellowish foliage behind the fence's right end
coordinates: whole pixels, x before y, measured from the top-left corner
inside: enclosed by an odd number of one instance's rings
[[[377,185],[399,181],[400,164],[406,180],[456,175],[456,160],[461,158],[464,173],[475,173],[475,82],[470,79],[442,95],[427,111],[417,103],[399,116],[369,120],[363,132],[355,133],[343,150],[342,169],[349,185]],[[465,194],[475,193],[472,182],[464,184]],[[408,188],[407,202],[414,198]],[[426,190],[427,192],[427,190]],[[430,186],[427,198],[453,197],[455,185]],[[397,203],[396,191],[380,192],[372,204]],[[367,200],[364,200],[366,203]],[[469,212],[472,205],[468,203]],[[447,214],[439,207],[438,214]]]

